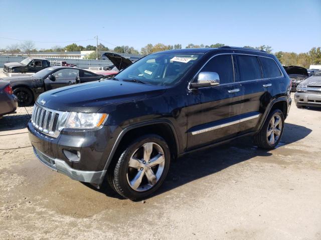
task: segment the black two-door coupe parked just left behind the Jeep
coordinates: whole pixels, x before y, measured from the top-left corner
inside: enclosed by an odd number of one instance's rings
[[[13,76],[4,79],[11,83],[18,97],[19,106],[27,106],[44,91],[100,78],[101,75],[81,68],[53,66],[38,71],[32,76]]]

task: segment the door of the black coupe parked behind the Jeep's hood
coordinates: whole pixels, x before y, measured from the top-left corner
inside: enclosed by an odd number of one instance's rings
[[[54,79],[50,79],[49,76],[45,79],[46,91],[62,86],[76,84],[76,79],[79,74],[78,69],[63,68],[53,73]]]

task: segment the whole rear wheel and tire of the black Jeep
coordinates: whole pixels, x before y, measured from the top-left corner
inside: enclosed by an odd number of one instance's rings
[[[284,130],[284,115],[280,109],[271,111],[262,127],[254,136],[257,146],[264,149],[273,149],[279,143]]]

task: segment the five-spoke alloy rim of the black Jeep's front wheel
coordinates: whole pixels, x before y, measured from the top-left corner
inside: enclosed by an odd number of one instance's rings
[[[135,191],[146,191],[161,178],[165,167],[163,148],[146,142],[137,148],[128,162],[127,182]]]

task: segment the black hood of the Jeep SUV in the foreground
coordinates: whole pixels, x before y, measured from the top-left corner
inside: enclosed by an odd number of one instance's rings
[[[166,87],[118,80],[100,80],[60,87],[42,93],[37,103],[55,110],[97,112],[112,103],[153,97]],[[46,101],[41,104],[40,101]]]

